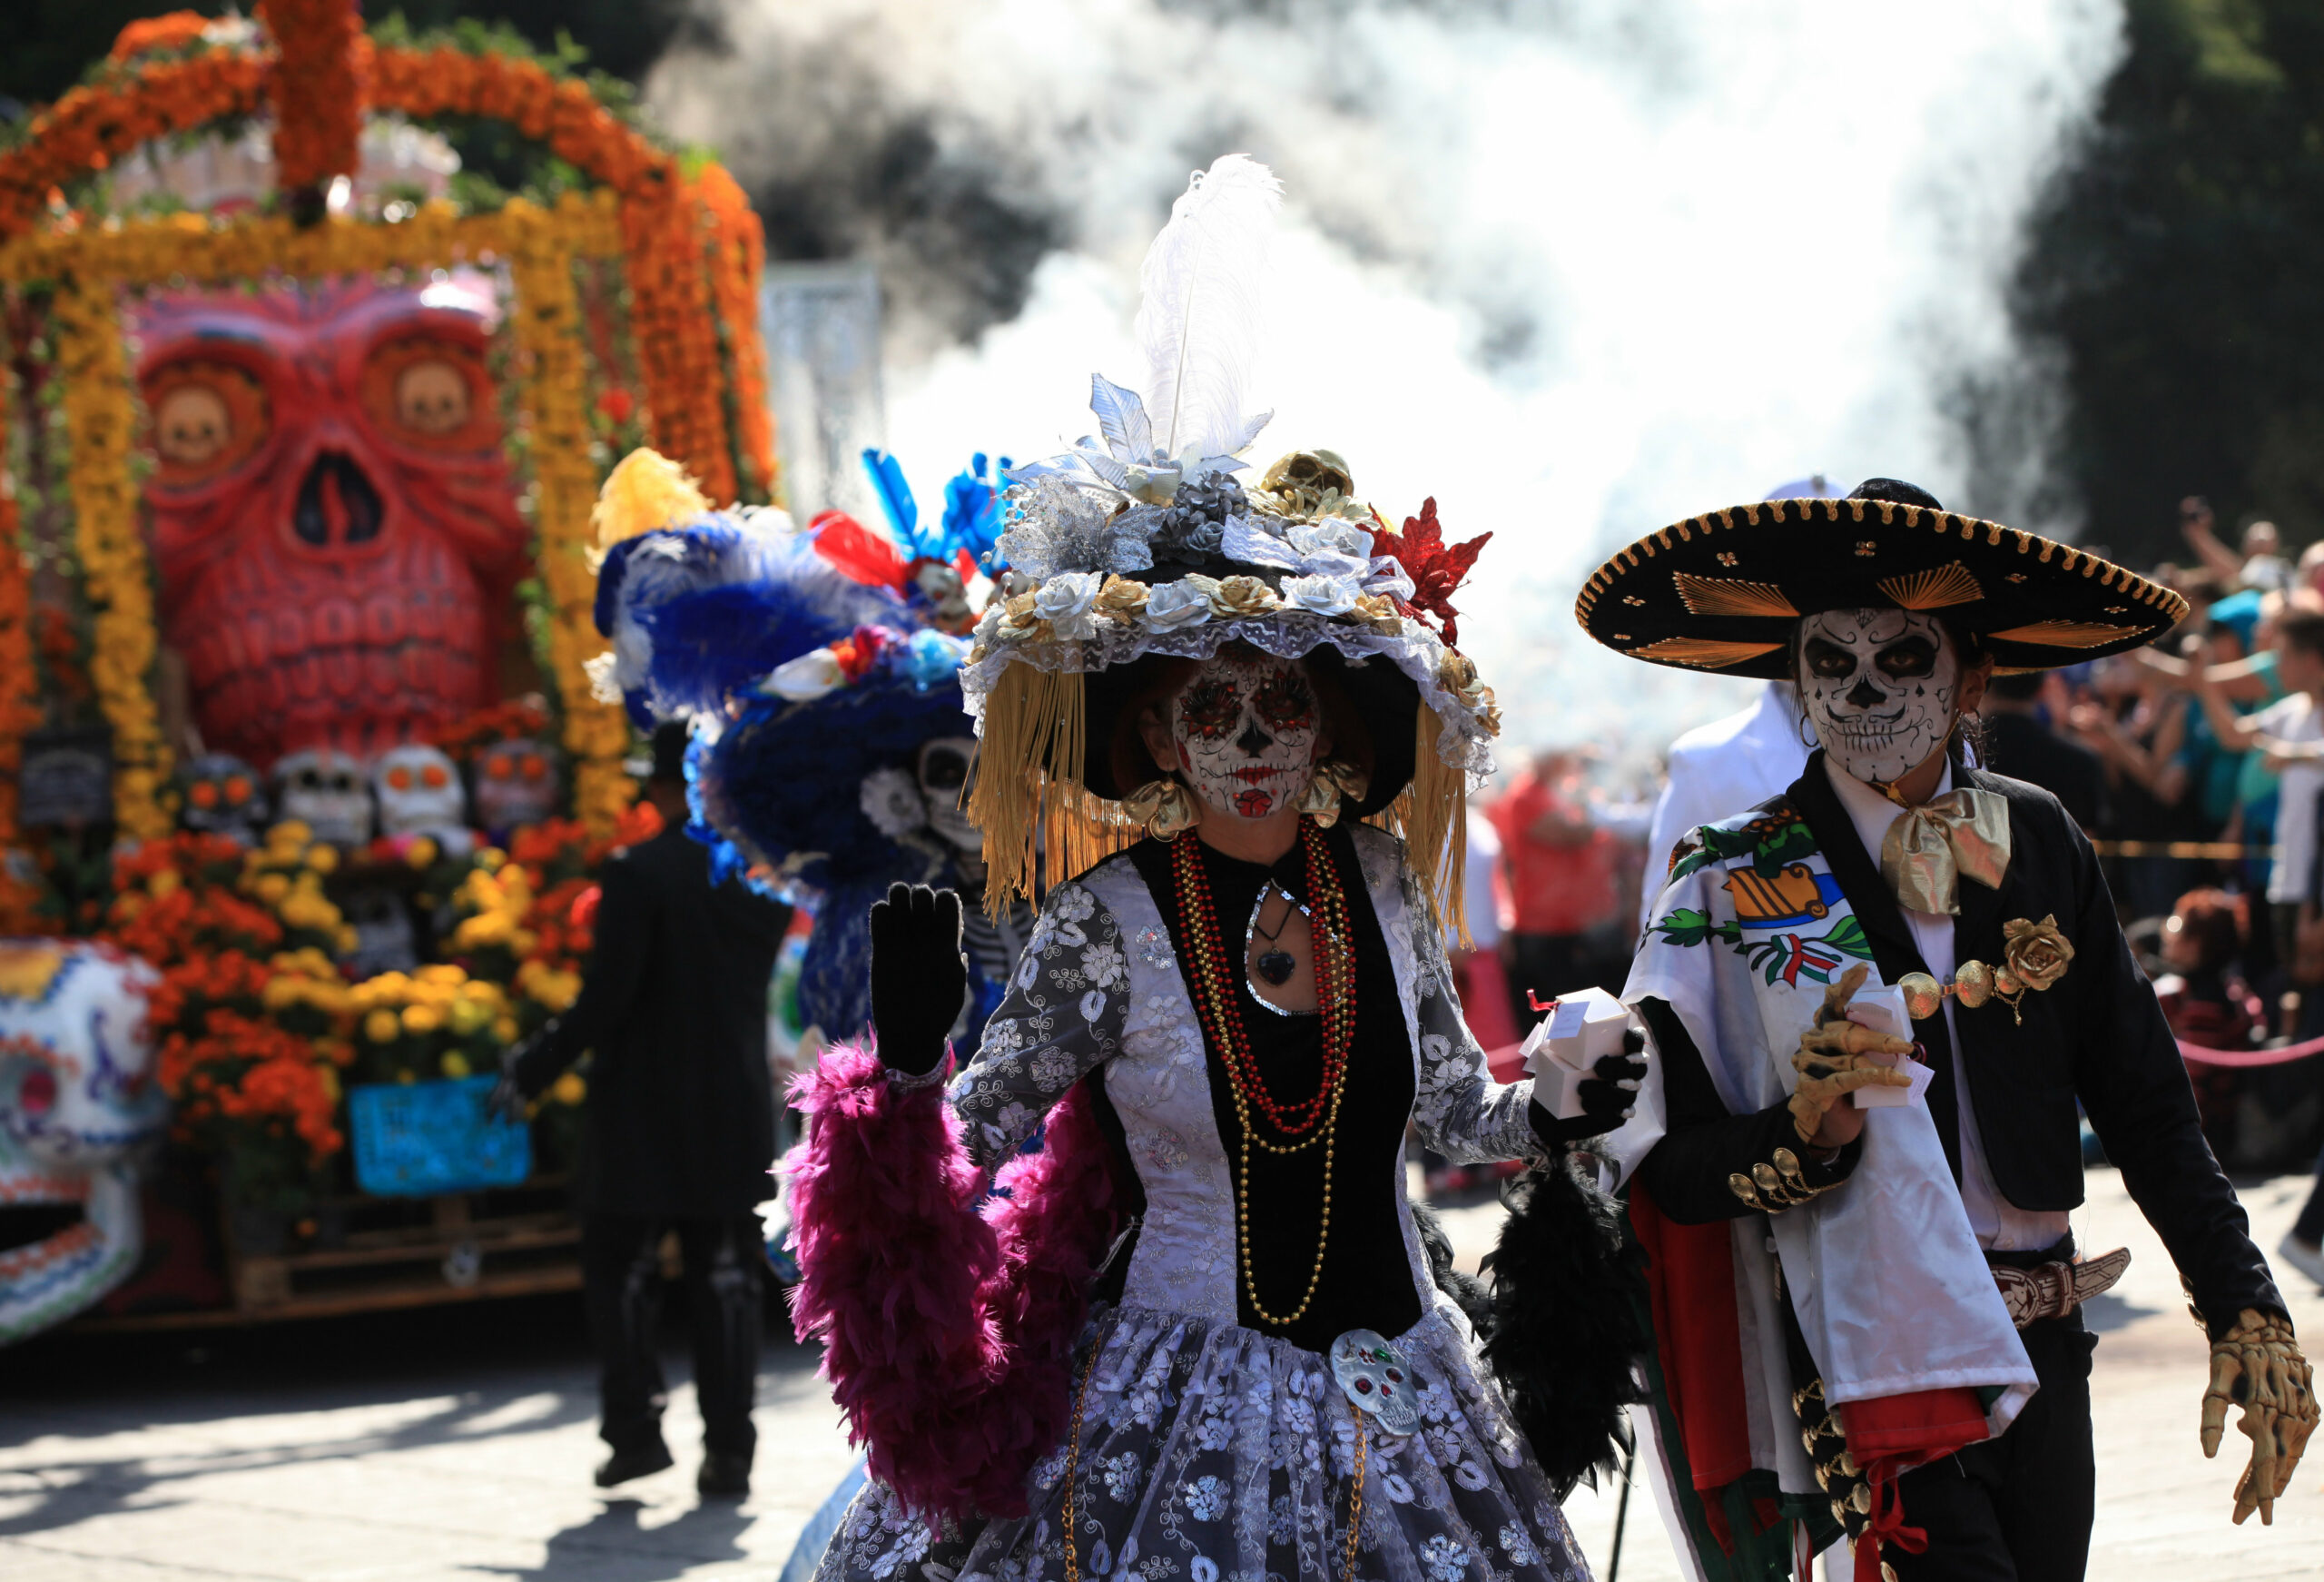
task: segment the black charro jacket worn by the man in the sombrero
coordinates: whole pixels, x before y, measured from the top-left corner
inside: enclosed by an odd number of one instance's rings
[[[2082,1203],[2082,1142],[2075,1100],[2089,1114],[2106,1156],[2122,1170],[2138,1210],[2171,1249],[2194,1289],[2212,1335],[2243,1307],[2284,1312],[2266,1259],[2252,1245],[2219,1161],[2196,1121],[2194,1091],[2178,1040],[2145,972],[2115,921],[2115,900],[2099,856],[2054,796],[2040,786],[1975,768],[1954,768],[1957,786],[1999,793],[2010,810],[2010,868],[1999,889],[1961,879],[1954,921],[1957,961],[2003,961],[2001,926],[2057,917],[2073,942],[2073,963],[2047,991],[2027,993],[2020,1024],[1999,998],[1957,1007],[1961,1049],[1943,1017],[1915,1026],[1936,1082],[1929,1110],[1945,1140],[1954,1180],[1961,1175],[1954,1059],[1966,1061],[1978,1135],[2001,1196],[2024,1210],[2071,1210]],[[1822,749],[1783,793],[1815,833],[1831,875],[1871,938],[1882,982],[1927,972],[1913,931],[1864,849],[1857,826],[1824,777]],[[1769,803],[1773,807],[1776,803]],[[1729,1186],[1776,1147],[1796,1149],[1789,1110],[1731,1117],[1710,1086],[1701,1054],[1659,1000],[1645,1007],[1664,1061],[1669,1133],[1641,1166],[1641,1180],[1666,1214],[1685,1224],[1755,1212]],[[1808,1166],[1813,1186],[1829,1186],[1855,1166],[1848,1149],[1829,1173]]]

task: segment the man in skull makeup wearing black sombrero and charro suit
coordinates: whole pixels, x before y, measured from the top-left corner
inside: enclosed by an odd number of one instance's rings
[[[2078,1107],[2210,1333],[2205,1454],[2243,1412],[2233,1519],[2291,1480],[2308,1363],[2089,840],[1959,751],[1996,665],[2124,651],[2185,610],[1894,479],[1694,516],[1583,589],[1634,658],[1792,677],[1822,742],[1678,842],[1622,996],[1659,1103],[1604,1154],[1634,1170],[1662,1468],[1703,1575],[1789,1575],[1843,1528],[1859,1582],[2082,1575],[2080,1305],[2129,1254],[2073,1245]]]

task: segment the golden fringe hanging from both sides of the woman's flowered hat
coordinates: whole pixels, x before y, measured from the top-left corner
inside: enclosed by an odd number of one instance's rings
[[[1037,891],[1095,868],[1146,833],[1120,803],[1090,796],[1081,784],[1083,698],[1078,672],[1009,665],[985,700],[969,819],[985,835],[985,912],[995,919],[1006,917],[1016,896],[1039,905]],[[1469,775],[1436,756],[1441,731],[1436,710],[1422,703],[1413,726],[1413,784],[1369,824],[1404,838],[1432,921],[1441,928],[1450,919],[1466,947]]]

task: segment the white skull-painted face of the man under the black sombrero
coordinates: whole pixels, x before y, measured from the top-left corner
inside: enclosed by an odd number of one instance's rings
[[[1799,700],[1831,758],[1887,786],[1952,733],[1961,656],[1931,614],[1824,610],[1799,630]]]

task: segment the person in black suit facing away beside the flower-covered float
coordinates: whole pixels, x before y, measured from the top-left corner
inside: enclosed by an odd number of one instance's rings
[[[765,1245],[774,1196],[767,979],[790,907],[711,884],[686,835],[686,726],[653,733],[646,800],[662,833],[604,865],[595,952],[572,1010],[511,1061],[495,1103],[516,1107],[595,1052],[581,1145],[581,1275],[600,1356],[597,1487],[672,1463],[655,1356],[665,1231],[679,1238],[702,1405],[702,1494],[751,1487]]]

